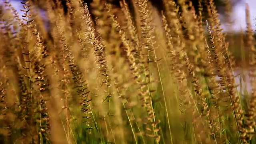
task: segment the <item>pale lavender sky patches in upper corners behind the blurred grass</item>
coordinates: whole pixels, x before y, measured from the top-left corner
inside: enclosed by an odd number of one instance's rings
[[[22,4],[20,1],[16,0],[10,0],[12,6],[18,10],[18,12],[22,15],[23,12],[20,11],[20,8],[22,8]],[[246,29],[246,22],[245,22],[245,5],[246,3],[249,4],[250,6],[250,17],[251,17],[251,22],[252,26],[255,30],[255,25],[256,25],[256,0],[242,0],[242,2],[238,3],[233,10],[232,13],[232,18],[234,19],[234,26],[233,26],[233,31],[235,32],[240,32],[240,28],[242,30]],[[222,24],[222,28],[224,31],[227,31],[227,28],[225,24]]]

